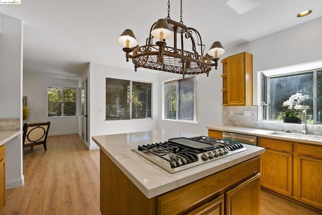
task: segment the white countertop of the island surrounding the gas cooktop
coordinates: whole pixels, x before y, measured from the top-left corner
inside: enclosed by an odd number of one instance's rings
[[[248,149],[245,152],[171,174],[131,150],[137,148],[138,145],[164,142],[175,137],[193,136],[199,135],[179,131],[155,130],[95,136],[92,139],[147,198],[176,189],[265,152],[264,148],[244,145]]]

